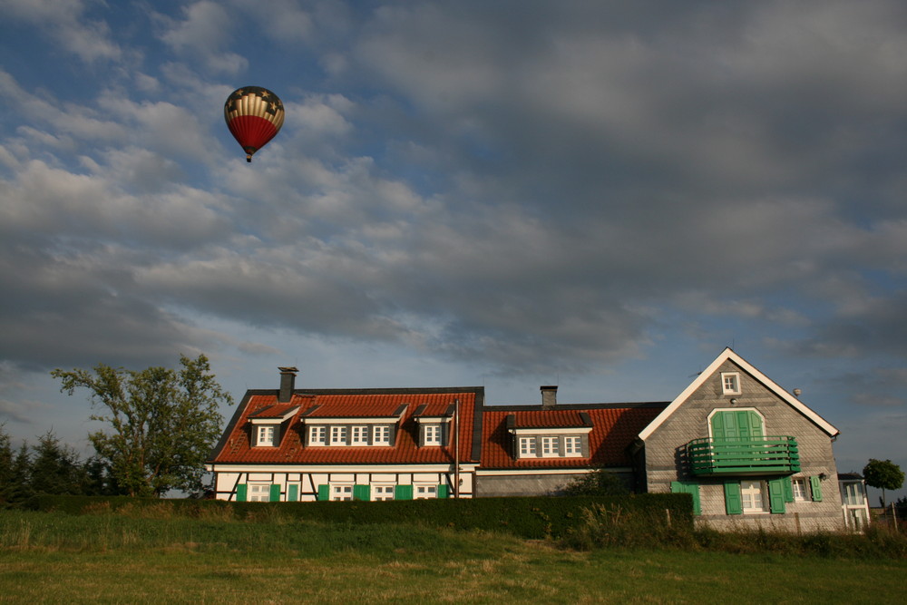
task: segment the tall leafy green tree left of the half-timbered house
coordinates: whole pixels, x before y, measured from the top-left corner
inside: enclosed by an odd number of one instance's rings
[[[62,392],[87,388],[93,407],[101,408],[91,419],[109,429],[88,438],[121,493],[203,488],[205,462],[223,424],[219,406],[233,399],[210,373],[206,356],[180,356],[180,366],[134,371],[99,364],[93,372],[51,372],[63,382]]]

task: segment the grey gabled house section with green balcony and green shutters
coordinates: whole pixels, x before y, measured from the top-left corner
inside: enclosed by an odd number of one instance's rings
[[[730,348],[637,436],[645,491],[693,496],[716,529],[840,530],[838,430]]]

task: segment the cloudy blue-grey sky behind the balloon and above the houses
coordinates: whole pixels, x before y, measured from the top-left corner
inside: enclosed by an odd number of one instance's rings
[[[839,471],[907,469],[903,2],[0,15],[15,439],[88,447],[54,368],[204,354],[237,400],[297,366],[299,387],[642,402],[731,346],[841,431]],[[251,163],[223,120],[244,85],[287,111]]]

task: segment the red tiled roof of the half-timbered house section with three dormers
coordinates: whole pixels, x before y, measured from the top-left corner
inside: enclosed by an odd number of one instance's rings
[[[285,407],[299,406],[300,412],[281,425],[278,447],[251,447],[249,415],[278,405],[278,393],[249,392],[239,404],[227,433],[215,448],[214,464],[449,464],[453,462],[453,442],[445,447],[418,447],[418,425],[414,412],[427,405],[423,415],[444,415],[456,399],[460,400],[460,460],[471,461],[473,421],[476,403],[482,405],[481,387],[434,389],[361,389],[307,391],[295,394]],[[478,399],[478,402],[476,401]],[[406,406],[392,446],[304,446],[304,421],[312,418],[356,418],[387,416],[395,418]],[[284,406],[284,405],[281,405]],[[313,408],[315,408],[313,410]],[[306,413],[312,410],[309,415]],[[266,411],[269,414],[270,411]],[[260,416],[255,416],[260,417]],[[475,460],[473,462],[478,462]]]

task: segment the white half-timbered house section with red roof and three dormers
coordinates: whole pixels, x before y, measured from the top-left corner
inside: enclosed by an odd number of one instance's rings
[[[249,390],[208,470],[219,500],[472,497],[482,387]]]

